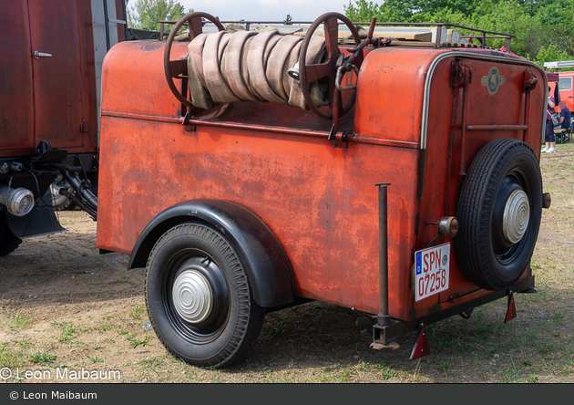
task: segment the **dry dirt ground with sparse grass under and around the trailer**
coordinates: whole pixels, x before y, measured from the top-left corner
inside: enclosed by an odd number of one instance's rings
[[[58,213],[67,232],[26,239],[0,258],[0,381],[574,382],[571,146],[542,156],[553,207],[532,261],[540,293],[518,296],[508,324],[498,300],[470,320],[429,327],[432,353],[422,360],[408,360],[414,333],[400,348],[374,350],[368,319],[313,302],[268,314],[240,364],[191,367],[149,327],[144,269],[128,271],[126,254],[99,254],[96,223],[68,211]]]

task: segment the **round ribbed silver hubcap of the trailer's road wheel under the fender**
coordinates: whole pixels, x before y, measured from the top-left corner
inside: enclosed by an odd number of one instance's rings
[[[204,321],[213,308],[213,292],[205,275],[197,270],[181,272],[173,283],[173,306],[191,324]]]

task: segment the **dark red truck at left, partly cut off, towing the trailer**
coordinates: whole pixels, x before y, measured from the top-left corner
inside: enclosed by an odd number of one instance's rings
[[[0,13],[0,256],[97,218],[101,69],[126,40],[124,0],[21,0]]]

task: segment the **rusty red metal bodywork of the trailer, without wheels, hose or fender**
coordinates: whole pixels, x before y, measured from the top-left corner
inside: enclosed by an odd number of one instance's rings
[[[354,109],[333,143],[330,121],[271,103],[220,106],[183,125],[186,109],[163,79],[164,43],[114,47],[103,73],[97,246],[131,254],[144,228],[173,204],[225,200],[269,227],[292,266],[297,296],[377,314],[375,184],[390,183],[391,317],[415,322],[499,297],[466,279],[456,238],[443,236],[453,250],[450,285],[416,302],[414,254],[436,238],[442,217],[456,215],[466,171],[488,141],[522,140],[539,159],[544,72],[489,49],[365,50]],[[174,43],[171,58],[186,55],[186,45]],[[487,83],[493,68],[501,78],[494,92]],[[538,86],[525,91],[527,77]],[[520,281],[532,286],[529,266],[523,270]]]

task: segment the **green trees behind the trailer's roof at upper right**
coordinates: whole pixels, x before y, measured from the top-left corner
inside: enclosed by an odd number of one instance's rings
[[[368,22],[375,16],[378,22],[475,27],[516,36],[510,50],[538,63],[574,59],[574,0],[384,0],[380,5],[350,0],[343,7],[354,22]],[[471,34],[464,28],[456,29],[461,35]],[[506,45],[504,38],[487,39],[488,47]]]

